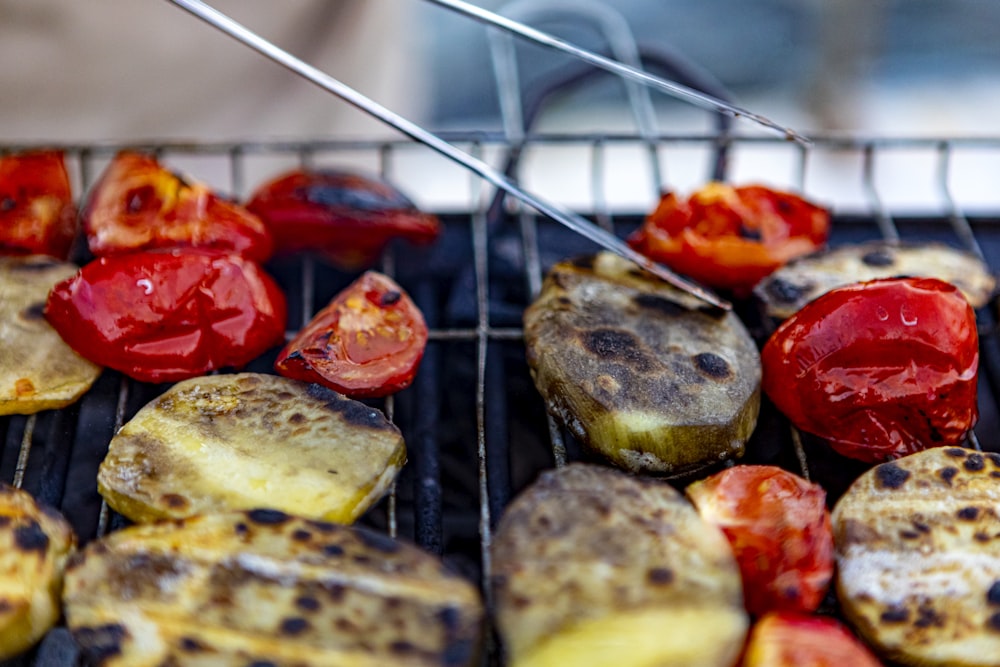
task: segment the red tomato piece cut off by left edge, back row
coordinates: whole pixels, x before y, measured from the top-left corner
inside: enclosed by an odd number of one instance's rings
[[[76,221],[61,151],[0,157],[0,254],[66,259]]]

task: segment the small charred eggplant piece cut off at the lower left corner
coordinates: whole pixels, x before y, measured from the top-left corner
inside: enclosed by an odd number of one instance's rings
[[[59,620],[63,570],[75,547],[58,512],[0,484],[0,659],[27,650]]]

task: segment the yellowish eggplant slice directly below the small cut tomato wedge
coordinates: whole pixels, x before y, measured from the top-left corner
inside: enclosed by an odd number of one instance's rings
[[[112,438],[97,482],[133,521],[272,507],[352,523],[406,458],[379,410],[319,385],[240,373],[179,382]]]

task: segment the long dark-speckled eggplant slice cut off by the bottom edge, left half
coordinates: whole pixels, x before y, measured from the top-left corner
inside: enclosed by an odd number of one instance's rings
[[[477,589],[417,547],[275,510],[132,526],[67,570],[73,636],[131,665],[460,667]]]

